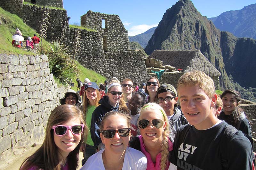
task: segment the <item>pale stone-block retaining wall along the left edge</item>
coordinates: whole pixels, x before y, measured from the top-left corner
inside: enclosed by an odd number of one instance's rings
[[[0,162],[44,138],[51,111],[66,88],[57,88],[47,56],[0,54]]]

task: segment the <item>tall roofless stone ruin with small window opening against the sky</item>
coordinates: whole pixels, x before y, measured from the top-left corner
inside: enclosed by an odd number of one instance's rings
[[[105,28],[102,26],[105,22]],[[105,52],[125,51],[130,49],[128,31],[118,15],[108,15],[88,11],[81,16],[81,26],[97,30]]]

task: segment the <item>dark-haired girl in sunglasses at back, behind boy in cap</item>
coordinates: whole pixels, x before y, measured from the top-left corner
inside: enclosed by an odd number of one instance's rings
[[[148,94],[148,102],[156,102],[156,92],[158,87],[160,86],[160,83],[157,78],[151,77],[148,79],[146,84],[145,92]]]

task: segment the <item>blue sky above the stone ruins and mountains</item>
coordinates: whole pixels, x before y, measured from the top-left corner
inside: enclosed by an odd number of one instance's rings
[[[91,10],[119,15],[129,36],[144,33],[157,26],[165,11],[178,0],[63,0],[71,17],[69,24],[79,24],[80,17]],[[217,17],[226,11],[240,10],[255,4],[256,0],[192,0],[197,11],[207,18]]]

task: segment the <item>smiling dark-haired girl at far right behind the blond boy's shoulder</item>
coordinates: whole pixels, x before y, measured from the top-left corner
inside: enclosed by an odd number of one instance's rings
[[[238,107],[241,99],[239,92],[228,89],[220,95],[220,98],[223,103],[223,108],[218,119],[224,120],[228,124],[234,126],[237,130],[241,130],[252,142],[250,123],[242,109]]]

